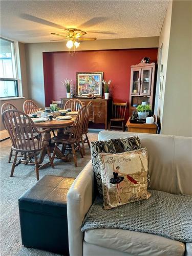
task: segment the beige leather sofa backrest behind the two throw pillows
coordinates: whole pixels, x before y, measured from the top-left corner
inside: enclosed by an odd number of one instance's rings
[[[192,195],[192,138],[102,131],[98,139],[138,136],[148,152],[150,188],[173,194]]]

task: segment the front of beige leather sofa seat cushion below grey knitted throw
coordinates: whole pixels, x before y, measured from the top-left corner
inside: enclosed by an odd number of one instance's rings
[[[123,229],[90,229],[84,232],[84,240],[90,244],[142,256],[181,256],[185,251],[185,245],[181,242]]]

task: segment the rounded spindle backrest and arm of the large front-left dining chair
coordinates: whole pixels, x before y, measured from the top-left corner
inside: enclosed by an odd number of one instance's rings
[[[21,152],[38,151],[42,147],[44,133],[39,132],[33,120],[19,110],[6,110],[2,121],[9,133],[13,148]],[[33,131],[39,133],[39,139],[33,138]]]

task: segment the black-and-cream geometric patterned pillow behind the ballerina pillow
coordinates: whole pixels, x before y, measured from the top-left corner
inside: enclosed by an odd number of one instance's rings
[[[128,138],[110,139],[110,140],[98,140],[91,142],[91,160],[93,165],[93,172],[97,181],[97,188],[99,194],[102,196],[102,182],[101,182],[101,170],[98,159],[99,153],[121,153],[124,151],[133,151],[142,148],[141,142],[138,136],[131,136]]]

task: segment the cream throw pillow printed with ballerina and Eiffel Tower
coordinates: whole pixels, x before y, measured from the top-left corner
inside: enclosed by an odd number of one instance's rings
[[[101,166],[104,209],[148,199],[146,148],[120,154],[101,153],[98,156]]]

